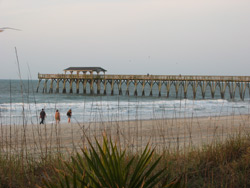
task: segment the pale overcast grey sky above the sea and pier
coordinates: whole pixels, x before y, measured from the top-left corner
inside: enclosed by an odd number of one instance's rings
[[[107,74],[250,75],[249,0],[0,0],[0,79],[100,66]],[[29,71],[30,70],[30,71]]]

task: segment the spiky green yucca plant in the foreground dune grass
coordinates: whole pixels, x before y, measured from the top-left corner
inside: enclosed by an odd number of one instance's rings
[[[152,162],[154,149],[145,147],[141,155],[128,157],[126,150],[118,149],[111,139],[103,137],[103,146],[95,139],[97,149],[88,140],[90,149],[82,149],[71,157],[71,162],[63,162],[66,170],[57,170],[58,181],[49,178],[46,187],[108,187],[108,188],[148,188],[160,185],[166,169],[153,172],[161,157]],[[152,164],[151,164],[152,163]],[[180,181],[170,182],[169,187],[179,187]],[[166,184],[166,183],[165,183]]]

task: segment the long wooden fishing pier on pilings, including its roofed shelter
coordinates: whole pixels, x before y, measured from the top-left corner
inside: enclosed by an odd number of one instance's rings
[[[176,98],[179,95],[187,98],[190,88],[193,99],[197,94],[205,99],[207,90],[210,90],[211,98],[219,91],[222,99],[225,94],[234,99],[237,93],[241,100],[244,100],[247,90],[250,93],[250,76],[111,75],[105,74],[106,70],[101,67],[69,67],[64,71],[64,74],[39,73],[37,92],[43,82],[43,93],[159,97],[169,97],[170,93],[174,93]],[[149,90],[148,93],[145,88]],[[156,93],[153,94],[153,91]]]

